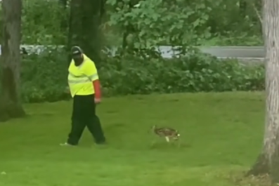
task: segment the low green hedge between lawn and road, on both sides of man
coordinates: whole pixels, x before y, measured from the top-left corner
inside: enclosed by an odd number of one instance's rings
[[[22,99],[25,102],[69,98],[67,54],[27,55],[22,61]],[[106,96],[209,91],[260,91],[264,89],[264,67],[223,62],[201,53],[183,58],[144,59],[134,55],[104,58],[99,67]]]

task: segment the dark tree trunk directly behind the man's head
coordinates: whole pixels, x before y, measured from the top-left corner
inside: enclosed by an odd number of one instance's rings
[[[68,48],[80,46],[96,65],[100,63],[100,24],[104,0],[70,1]]]

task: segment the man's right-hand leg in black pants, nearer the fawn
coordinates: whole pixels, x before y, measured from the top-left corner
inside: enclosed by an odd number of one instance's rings
[[[100,119],[96,115],[96,104],[94,102],[94,97],[91,95],[89,97],[88,113],[86,119],[86,126],[97,144],[102,144],[105,142],[105,135],[103,133],[103,128],[100,124]]]

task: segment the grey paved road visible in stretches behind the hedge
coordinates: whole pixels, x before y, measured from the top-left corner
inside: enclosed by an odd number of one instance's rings
[[[39,53],[44,50],[44,46],[24,46],[27,51]],[[217,58],[264,58],[265,51],[263,46],[211,46],[200,47],[204,53],[215,55]],[[160,46],[164,58],[171,58],[175,52],[171,51],[170,46]],[[113,53],[113,52],[112,52]],[[1,55],[1,46],[0,46]]]

